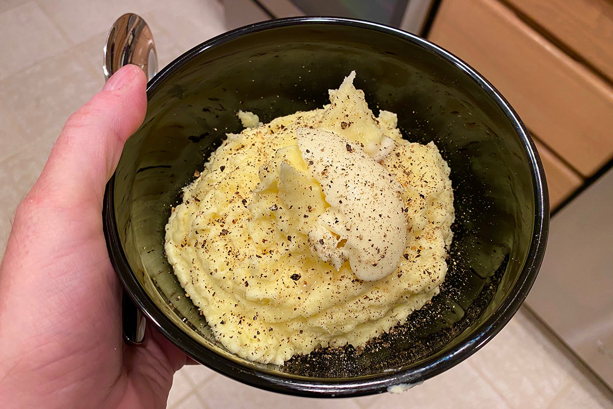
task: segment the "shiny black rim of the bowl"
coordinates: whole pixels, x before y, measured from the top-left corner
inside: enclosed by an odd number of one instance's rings
[[[512,124],[513,131],[520,138],[524,147],[534,182],[535,195],[535,223],[530,249],[528,250],[524,267],[511,289],[511,294],[503,300],[495,313],[492,313],[481,326],[476,328],[476,331],[474,331],[470,337],[454,345],[444,354],[436,354],[434,357],[424,359],[418,367],[390,371],[389,373],[383,372],[378,375],[365,375],[355,380],[347,378],[330,378],[324,380],[321,378],[313,379],[290,374],[282,376],[248,368],[208,349],[175,326],[170,318],[164,315],[154,304],[153,300],[147,296],[147,293],[140,285],[128,264],[128,259],[121,246],[115,222],[115,173],[113,173],[107,183],[102,209],[104,234],[111,262],[124,289],[128,292],[132,301],[140,308],[145,316],[147,316],[154,328],[164,334],[166,338],[188,354],[188,356],[206,365],[210,369],[233,378],[234,380],[268,391],[305,397],[364,396],[385,392],[395,385],[402,384],[403,386],[409,387],[414,384],[422,383],[424,380],[459,364],[459,362],[462,362],[478,351],[485,343],[489,342],[489,340],[509,322],[527,297],[528,291],[530,291],[539,267],[541,266],[541,262],[543,261],[547,234],[549,231],[549,195],[547,192],[543,164],[541,163],[535,144],[531,140],[527,128],[522,120],[520,120],[515,110],[492,84],[485,80],[477,71],[461,59],[428,40],[422,39],[409,32],[379,23],[373,23],[371,21],[339,17],[289,17],[263,21],[261,23],[254,23],[252,25],[237,28],[197,45],[172,61],[172,63],[164,67],[164,69],[150,80],[147,85],[147,95],[150,97],[158,86],[173,72],[177,71],[192,58],[211,47],[224,44],[230,40],[244,36],[245,34],[295,25],[353,26],[360,29],[369,29],[384,32],[392,36],[402,37],[402,39],[408,40],[419,47],[426,48],[430,52],[454,64],[458,69],[471,77],[474,82],[478,83],[485,93],[489,95],[498,107],[500,107]]]

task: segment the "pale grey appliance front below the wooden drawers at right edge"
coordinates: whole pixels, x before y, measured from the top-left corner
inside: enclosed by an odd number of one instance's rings
[[[558,211],[527,299],[543,323],[613,389],[613,170]],[[609,390],[609,395],[611,395]]]

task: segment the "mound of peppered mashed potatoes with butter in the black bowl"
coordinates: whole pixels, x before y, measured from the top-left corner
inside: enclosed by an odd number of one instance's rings
[[[354,347],[438,294],[454,221],[434,143],[375,117],[352,72],[330,104],[229,134],[166,226],[166,254],[227,350],[283,364]]]

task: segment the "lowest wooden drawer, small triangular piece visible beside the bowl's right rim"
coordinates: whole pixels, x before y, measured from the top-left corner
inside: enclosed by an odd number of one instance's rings
[[[549,189],[549,207],[553,209],[581,186],[583,179],[560,161],[543,143],[535,140],[535,145],[545,169]]]

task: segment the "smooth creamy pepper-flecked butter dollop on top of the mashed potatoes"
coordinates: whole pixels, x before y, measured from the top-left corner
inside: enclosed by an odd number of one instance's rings
[[[359,143],[321,129],[297,129],[298,147],[330,207],[309,232],[322,259],[349,259],[357,278],[381,280],[398,267],[406,246],[402,186]],[[328,260],[326,260],[328,261]]]

